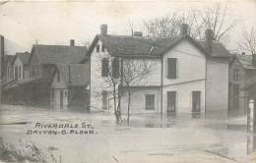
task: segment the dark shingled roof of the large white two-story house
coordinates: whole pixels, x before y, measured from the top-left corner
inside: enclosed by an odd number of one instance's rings
[[[100,40],[110,55],[113,56],[140,56],[140,57],[160,57],[166,51],[173,48],[183,39],[188,39],[196,47],[206,54],[205,41],[195,40],[190,36],[151,39],[144,36],[128,36],[128,35],[100,35],[97,34],[93,43],[89,48],[88,55],[91,55],[96,46],[96,42]],[[213,42],[213,57],[229,57],[229,52],[220,42]]]

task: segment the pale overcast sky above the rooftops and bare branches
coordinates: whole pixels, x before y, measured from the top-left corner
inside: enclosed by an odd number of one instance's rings
[[[4,1],[0,0],[0,34],[6,39],[6,54],[31,51],[32,44],[76,45],[92,42],[101,24],[108,33],[131,34],[145,31],[144,21],[188,9],[203,10],[217,3],[213,0],[131,0],[131,1]],[[229,0],[228,20],[238,19],[230,31],[227,48],[233,50],[244,29],[256,27],[256,1]]]

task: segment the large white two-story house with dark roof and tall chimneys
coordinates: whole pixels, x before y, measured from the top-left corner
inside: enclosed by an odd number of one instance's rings
[[[206,112],[227,113],[229,53],[220,42],[213,41],[212,30],[206,31],[205,40],[195,40],[181,27],[180,37],[153,40],[142,36],[107,34],[101,26],[88,52],[91,64],[91,106],[108,110],[111,95],[105,78],[115,58],[152,65],[150,75],[133,89],[131,114],[142,112]],[[124,69],[120,64],[120,74]],[[122,76],[120,77],[122,79]],[[122,84],[122,87],[127,85]],[[128,98],[121,97],[122,113],[127,113]]]

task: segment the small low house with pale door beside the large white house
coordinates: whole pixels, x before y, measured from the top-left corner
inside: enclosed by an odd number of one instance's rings
[[[56,64],[50,81],[53,109],[85,110],[89,107],[89,64]]]

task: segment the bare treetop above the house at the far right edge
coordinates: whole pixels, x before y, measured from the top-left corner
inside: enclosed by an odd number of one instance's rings
[[[242,33],[242,41],[238,46],[251,55],[256,54],[256,29],[254,27]]]

